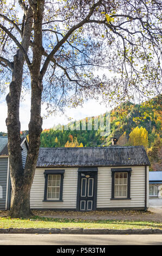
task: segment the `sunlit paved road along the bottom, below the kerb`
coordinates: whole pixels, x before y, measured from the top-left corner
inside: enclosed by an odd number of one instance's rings
[[[162,245],[162,234],[0,234],[0,245]]]

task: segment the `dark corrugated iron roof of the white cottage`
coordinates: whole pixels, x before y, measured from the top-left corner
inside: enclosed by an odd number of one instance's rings
[[[96,148],[40,148],[37,167],[145,166],[144,146]]]

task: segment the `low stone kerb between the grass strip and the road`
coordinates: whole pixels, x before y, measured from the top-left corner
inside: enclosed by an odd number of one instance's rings
[[[162,229],[1,228],[0,234],[162,234]]]

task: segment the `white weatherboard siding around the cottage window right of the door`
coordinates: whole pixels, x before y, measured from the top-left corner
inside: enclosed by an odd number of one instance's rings
[[[130,200],[110,200],[111,168],[123,167],[98,167],[97,208],[144,207],[145,166],[127,166],[127,168],[132,168],[132,174],[130,176]]]

